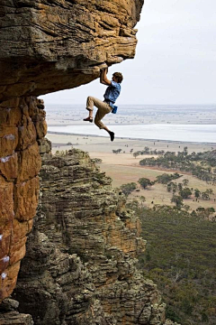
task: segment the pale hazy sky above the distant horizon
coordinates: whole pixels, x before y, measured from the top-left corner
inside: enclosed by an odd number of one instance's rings
[[[216,1],[145,0],[137,24],[134,60],[109,69],[121,71],[119,104],[216,104]],[[83,104],[103,99],[99,79],[41,96],[46,104]]]

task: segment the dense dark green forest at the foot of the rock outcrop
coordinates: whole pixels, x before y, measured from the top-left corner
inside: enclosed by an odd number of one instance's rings
[[[131,203],[130,203],[131,208]],[[171,207],[133,209],[146,252],[139,265],[166,302],[166,317],[183,325],[216,324],[216,222]]]

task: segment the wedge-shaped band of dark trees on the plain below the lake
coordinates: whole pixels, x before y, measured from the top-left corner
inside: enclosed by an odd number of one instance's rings
[[[133,153],[134,155],[134,153]],[[157,158],[150,157],[142,159],[140,165],[157,166],[169,170],[179,170],[190,172],[202,181],[212,181],[216,183],[216,151],[208,151],[204,153],[187,152],[184,147],[183,152],[166,152]]]

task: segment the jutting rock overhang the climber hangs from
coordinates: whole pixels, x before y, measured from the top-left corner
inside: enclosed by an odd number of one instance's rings
[[[144,0],[1,0],[0,101],[74,88],[131,59]]]

